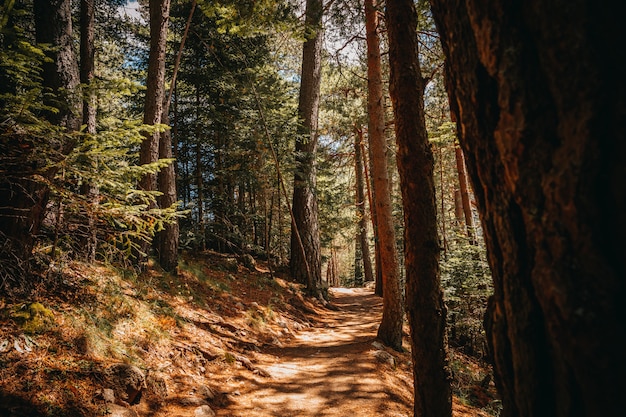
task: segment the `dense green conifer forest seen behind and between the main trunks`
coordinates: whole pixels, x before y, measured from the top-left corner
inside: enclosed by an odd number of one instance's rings
[[[75,49],[83,29],[79,6],[71,9]],[[180,250],[248,254],[270,259],[275,268],[287,265],[293,250],[294,140],[302,135],[297,99],[299,45],[306,37],[299,20],[303,12],[303,5],[289,2],[173,2],[164,62],[172,159],[146,164],[139,145],[154,131],[150,129],[166,129],[142,124],[150,50],[147,4],[103,2],[93,10],[93,70],[88,83],[77,84],[80,90],[72,94],[81,91],[90,100],[95,125],[69,131],[54,124],[52,116],[64,111],[55,107],[60,106],[58,99],[45,99],[53,91],[41,70],[51,53],[46,48],[52,46],[36,43],[28,3],[8,3],[2,97],[4,137],[10,140],[4,146],[15,145],[16,133],[28,142],[17,147],[17,155],[14,149],[4,153],[4,191],[11,192],[20,181],[47,190],[38,202],[45,205],[40,207],[45,211],[41,225],[29,233],[39,269],[31,270],[32,262],[23,257],[4,257],[3,289],[27,290],[35,282],[29,274],[46,275],[41,267],[73,258],[141,267],[137,258],[148,249],[143,242],[153,242],[158,253],[153,238],[174,219],[180,227]],[[387,161],[398,253],[403,247],[387,87],[385,153],[368,152],[364,20],[358,2],[332,2],[324,12],[319,146],[314,155],[324,285],[362,285],[366,279],[363,259],[371,262],[375,241],[370,158]],[[452,339],[482,355],[481,308],[490,292],[484,244],[449,117],[443,56],[426,4],[421,4],[419,22]],[[388,76],[387,41],[381,32],[383,75]],[[177,196],[175,204],[163,207],[156,204],[161,192],[146,189],[141,179],[172,161]],[[361,230],[365,240],[359,237]],[[5,253],[15,249],[6,242]],[[367,279],[372,279],[369,274]]]

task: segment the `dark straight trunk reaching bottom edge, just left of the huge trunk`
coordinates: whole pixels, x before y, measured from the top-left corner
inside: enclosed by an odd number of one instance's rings
[[[452,416],[446,307],[439,279],[434,158],[424,121],[424,80],[413,0],[387,1],[390,95],[404,208],[406,309],[411,328],[414,415]]]

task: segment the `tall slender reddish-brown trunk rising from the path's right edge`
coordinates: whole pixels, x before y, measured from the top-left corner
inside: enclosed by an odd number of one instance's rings
[[[378,12],[374,0],[365,0],[365,27],[367,31],[368,138],[383,278],[383,317],[378,327],[378,338],[386,345],[401,350],[403,313],[400,266],[389,193]]]

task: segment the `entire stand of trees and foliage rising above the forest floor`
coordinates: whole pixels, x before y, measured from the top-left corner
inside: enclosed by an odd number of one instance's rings
[[[6,0],[0,294],[262,262],[327,307],[372,286],[398,352],[406,317],[415,415],[450,415],[448,347],[504,415],[609,413],[622,32],[493,3]]]

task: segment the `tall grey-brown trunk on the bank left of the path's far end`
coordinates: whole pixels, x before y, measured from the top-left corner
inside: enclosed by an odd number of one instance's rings
[[[291,274],[306,283],[314,294],[322,279],[322,258],[315,196],[317,153],[317,116],[320,100],[322,62],[322,0],[306,2],[306,41],[302,49],[302,74],[298,116],[300,129],[296,136],[296,170],[293,185],[293,214],[296,231],[291,232]],[[304,253],[303,253],[304,252]]]

